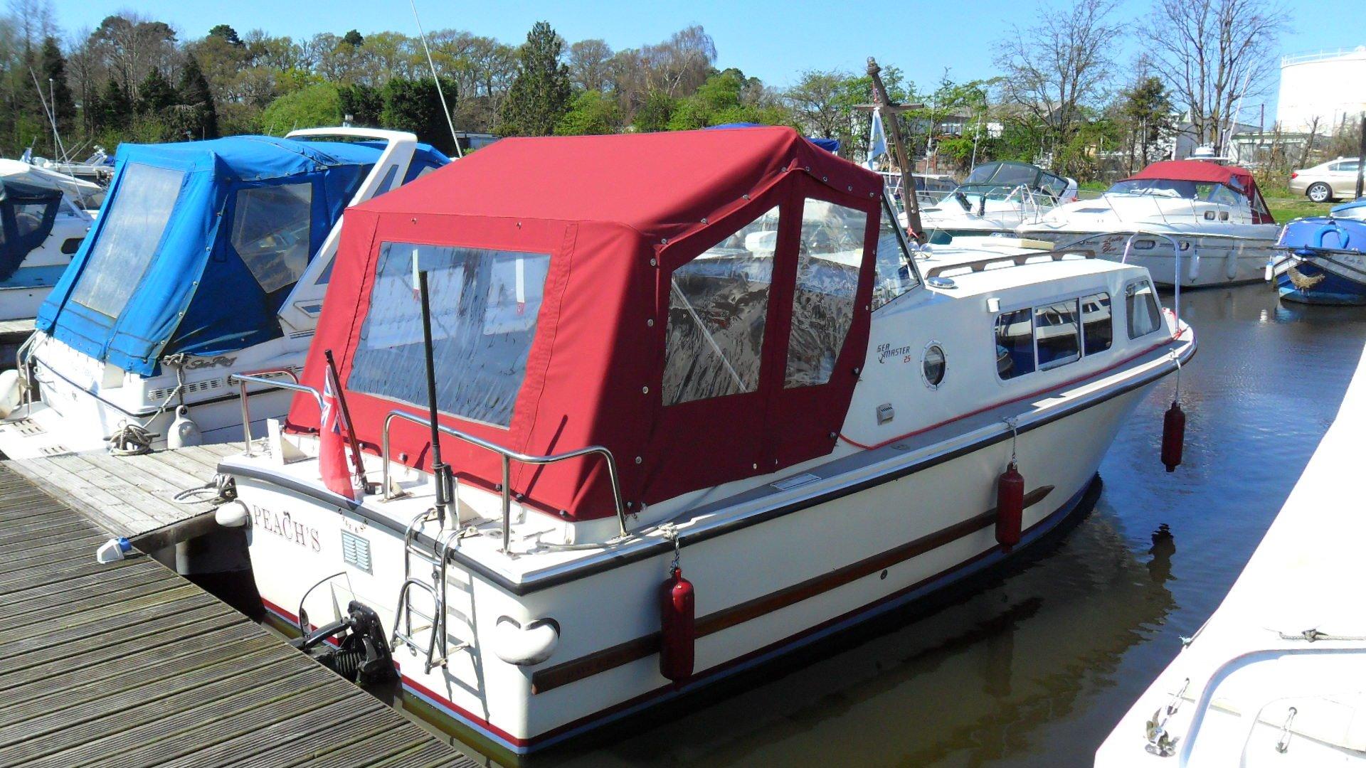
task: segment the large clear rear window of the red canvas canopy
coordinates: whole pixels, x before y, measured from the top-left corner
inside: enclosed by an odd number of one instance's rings
[[[384,243],[347,387],[428,404],[422,302],[428,273],[436,399],[441,413],[512,422],[535,338],[550,257],[489,249]]]

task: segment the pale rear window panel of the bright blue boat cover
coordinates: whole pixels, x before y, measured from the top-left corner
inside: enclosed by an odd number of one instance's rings
[[[180,197],[183,171],[128,163],[117,194],[105,205],[96,242],[71,301],[107,317],[117,317],[161,245],[171,212]]]

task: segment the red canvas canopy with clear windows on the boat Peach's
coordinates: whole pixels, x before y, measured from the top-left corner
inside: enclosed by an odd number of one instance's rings
[[[347,210],[303,379],[321,388],[333,351],[367,450],[391,410],[425,414],[417,260],[445,286],[432,312],[452,394],[437,400],[463,413],[443,407],[443,424],[537,455],[605,445],[637,510],[821,456],[867,346],[881,189],[784,127],[503,139]],[[829,212],[858,230],[843,262],[809,258],[831,236],[813,217]],[[686,301],[694,284],[702,298]],[[462,314],[471,301],[477,320]],[[753,369],[732,366],[727,344],[758,350]],[[821,344],[833,351],[802,357]],[[721,394],[697,396],[708,387]],[[290,428],[317,424],[313,399],[296,398]],[[423,428],[395,422],[392,445],[429,469]],[[462,478],[501,482],[493,454],[455,439],[441,452]],[[598,459],[514,463],[511,478],[567,519],[613,514]]]

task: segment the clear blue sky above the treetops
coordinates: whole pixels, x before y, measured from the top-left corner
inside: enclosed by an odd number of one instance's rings
[[[57,22],[70,34],[94,27],[120,10],[135,7],[175,26],[183,37],[201,37],[217,23],[238,31],[261,27],[295,38],[320,31],[362,34],[396,30],[415,34],[407,0],[56,0]],[[867,56],[895,64],[922,86],[932,86],[949,67],[955,81],[994,75],[992,42],[1012,25],[1027,26],[1041,8],[1033,0],[926,1],[713,1],[650,3],[632,0],[449,3],[418,0],[422,25],[467,29],[504,42],[520,42],[537,20],[548,20],[568,41],[601,37],[613,49],[664,40],[698,23],[716,40],[717,66],[739,67],[773,86],[795,82],[805,70],[862,70]],[[1053,4],[1056,7],[1056,3]],[[1147,22],[1147,0],[1126,3],[1117,16],[1131,29]],[[1283,53],[1351,48],[1366,44],[1363,0],[1290,0],[1294,18]],[[1355,19],[1354,23],[1346,23]],[[1141,41],[1131,38],[1119,57],[1126,64]],[[1274,101],[1272,83],[1268,101]],[[1247,107],[1244,105],[1244,109]],[[1270,108],[1268,108],[1270,111]]]

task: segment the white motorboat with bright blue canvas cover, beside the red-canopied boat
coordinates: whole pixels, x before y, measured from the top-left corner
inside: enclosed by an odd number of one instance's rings
[[[343,209],[445,163],[410,133],[370,128],[123,145],[96,228],[19,370],[0,374],[0,452],[239,440],[228,374],[298,374]],[[253,387],[257,418],[288,395]]]

